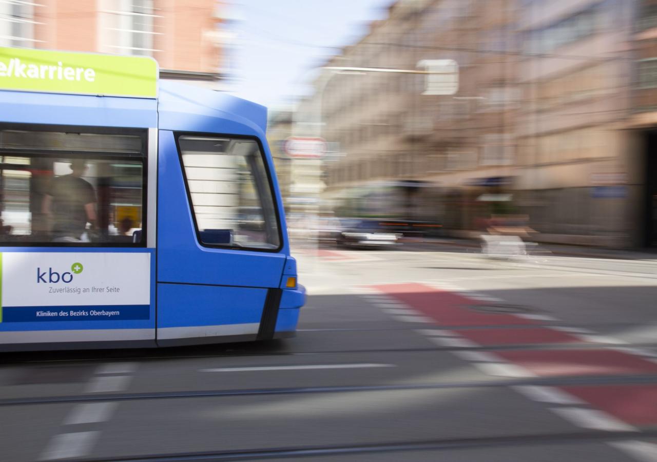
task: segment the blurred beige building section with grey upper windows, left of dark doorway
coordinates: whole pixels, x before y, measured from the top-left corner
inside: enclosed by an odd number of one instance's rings
[[[637,241],[633,5],[531,1],[518,11],[522,41],[516,203],[543,239],[631,246]],[[634,235],[634,236],[633,236]],[[633,242],[635,241],[635,242]]]

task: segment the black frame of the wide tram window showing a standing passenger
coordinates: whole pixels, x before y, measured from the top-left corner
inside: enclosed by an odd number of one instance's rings
[[[102,150],[66,150],[58,149],[49,152],[45,149],[26,148],[2,149],[0,147],[0,156],[16,156],[30,158],[82,158],[85,160],[108,160],[116,159],[130,162],[141,162],[141,239],[137,243],[110,243],[110,242],[52,242],[52,241],[16,241],[6,242],[0,239],[0,247],[52,247],[52,248],[145,248],[147,246],[148,235],[148,129],[134,127],[100,127],[100,126],[69,126],[55,124],[16,124],[12,122],[1,122],[0,131],[34,131],[34,132],[51,132],[51,133],[79,133],[90,135],[131,135],[137,136],[141,140],[139,154],[121,154]],[[0,236],[1,238],[1,236]]]

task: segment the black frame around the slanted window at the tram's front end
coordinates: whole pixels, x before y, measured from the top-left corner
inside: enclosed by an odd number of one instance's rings
[[[267,156],[265,155],[265,149],[263,147],[262,141],[256,136],[249,135],[235,135],[234,133],[210,133],[210,132],[198,132],[198,131],[175,131],[173,133],[175,139],[175,147],[178,152],[178,160],[180,162],[180,170],[183,173],[183,183],[185,183],[185,192],[187,193],[187,204],[192,215],[192,220],[194,223],[194,233],[196,235],[196,242],[205,248],[219,248],[224,250],[244,250],[248,252],[267,252],[267,253],[279,253],[283,250],[283,228],[281,226],[281,210],[279,209],[279,203],[277,200],[276,190],[273,183],[273,175],[275,174],[267,161]],[[276,248],[264,248],[264,247],[246,247],[236,244],[213,244],[213,243],[204,243],[201,239],[200,229],[198,227],[198,221],[196,220],[196,212],[194,211],[194,203],[192,201],[191,191],[189,189],[189,181],[187,179],[187,172],[185,172],[185,162],[183,161],[183,150],[180,147],[180,138],[181,137],[198,137],[198,138],[228,138],[228,139],[243,139],[248,141],[255,141],[258,145],[258,150],[260,151],[260,156],[262,159],[263,167],[265,168],[265,173],[267,175],[267,185],[269,186],[269,194],[271,195],[271,202],[274,208],[274,215],[276,219],[276,228],[278,233],[279,245]]]

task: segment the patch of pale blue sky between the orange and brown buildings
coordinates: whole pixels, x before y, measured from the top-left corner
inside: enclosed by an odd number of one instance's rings
[[[285,109],[311,91],[327,57],[367,34],[392,0],[235,0],[231,85],[238,97]]]

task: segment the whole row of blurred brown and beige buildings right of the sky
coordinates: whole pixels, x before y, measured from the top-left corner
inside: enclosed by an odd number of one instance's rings
[[[515,214],[537,241],[657,244],[656,17],[653,0],[397,1],[325,66],[453,59],[459,90],[321,70],[299,118],[343,154],[324,163],[325,203],[452,235]]]

